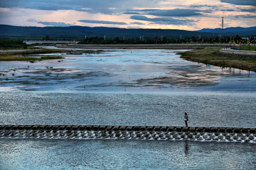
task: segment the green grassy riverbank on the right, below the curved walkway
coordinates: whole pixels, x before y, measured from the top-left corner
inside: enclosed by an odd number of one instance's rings
[[[219,67],[238,68],[243,70],[256,71],[256,59],[243,59],[232,57],[221,57],[214,54],[220,47],[207,47],[178,53],[181,58],[189,61],[210,64]]]

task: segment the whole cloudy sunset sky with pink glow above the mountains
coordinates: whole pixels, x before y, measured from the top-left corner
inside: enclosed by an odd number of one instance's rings
[[[256,26],[256,0],[0,0],[0,24],[202,28]]]

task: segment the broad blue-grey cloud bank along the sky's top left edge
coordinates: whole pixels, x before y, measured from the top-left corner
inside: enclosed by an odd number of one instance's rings
[[[0,8],[30,8],[40,10],[76,10],[114,14],[129,7],[152,8],[159,0],[0,0]]]

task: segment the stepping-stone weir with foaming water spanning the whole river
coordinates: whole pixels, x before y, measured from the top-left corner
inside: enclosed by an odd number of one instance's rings
[[[192,140],[256,144],[256,128],[0,125],[0,138]]]

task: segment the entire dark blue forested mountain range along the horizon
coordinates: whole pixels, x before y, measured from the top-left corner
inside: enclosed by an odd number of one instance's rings
[[[85,36],[99,36],[106,38],[114,38],[125,36],[126,38],[142,37],[145,38],[160,38],[161,35],[167,38],[180,38],[182,37],[210,37],[218,36],[221,34],[221,28],[215,29],[201,29],[198,31],[186,31],[176,29],[126,29],[126,28],[110,28],[110,27],[88,27],[88,26],[9,26],[0,25],[0,38],[12,38],[12,39],[42,39],[42,37],[49,35],[50,38],[54,39],[76,39],[82,40]],[[224,29],[224,35],[235,36],[235,35],[256,35],[256,26],[241,28],[241,27],[230,27]]]

